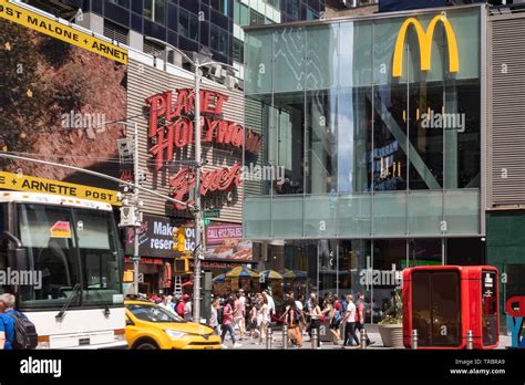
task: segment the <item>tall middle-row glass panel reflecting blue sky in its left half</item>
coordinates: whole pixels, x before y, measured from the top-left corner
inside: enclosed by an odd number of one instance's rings
[[[343,89],[338,101],[337,179],[339,192],[370,191],[372,90]]]

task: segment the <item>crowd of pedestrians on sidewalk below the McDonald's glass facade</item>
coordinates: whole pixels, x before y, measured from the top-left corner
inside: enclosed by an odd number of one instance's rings
[[[192,299],[187,294],[181,298],[153,295],[150,300],[185,321],[193,321]],[[228,335],[233,347],[243,346],[241,342],[261,344],[266,341],[268,330],[277,324],[288,326],[287,337],[292,347],[302,346],[303,335],[309,335],[311,341],[312,330],[317,330],[320,335],[321,325],[328,324],[332,343],[341,344],[344,348],[353,343],[360,344],[357,333],[364,324],[364,296],[358,293],[354,301],[350,294],[338,299],[327,293],[319,301],[316,293],[306,300],[302,294],[296,299],[295,293],[289,292],[284,309],[278,312],[269,290],[245,293],[240,289],[236,293],[213,298],[209,314],[207,323],[220,335],[224,348],[227,348],[225,340]],[[372,343],[367,337],[367,344]],[[318,339],[318,347],[320,345]]]

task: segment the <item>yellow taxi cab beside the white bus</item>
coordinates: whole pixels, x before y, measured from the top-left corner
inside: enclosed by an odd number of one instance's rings
[[[125,301],[126,341],[130,348],[220,350],[214,330],[147,301]]]

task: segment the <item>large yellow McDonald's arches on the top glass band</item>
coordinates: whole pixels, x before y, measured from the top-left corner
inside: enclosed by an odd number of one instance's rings
[[[395,40],[392,76],[400,77],[403,72],[403,45],[410,25],[414,27],[418,42],[420,44],[421,71],[430,70],[430,62],[432,59],[432,38],[434,37],[435,25],[439,22],[443,24],[449,45],[449,71],[460,71],[460,56],[457,54],[457,42],[455,40],[454,30],[446,17],[444,14],[439,14],[431,20],[426,31],[423,29],[419,20],[414,18],[409,18],[403,22],[399,30],[398,39]]]

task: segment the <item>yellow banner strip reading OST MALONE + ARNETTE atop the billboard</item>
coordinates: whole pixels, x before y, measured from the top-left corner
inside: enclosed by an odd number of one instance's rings
[[[69,44],[80,46],[115,62],[127,64],[127,50],[9,3],[7,0],[0,0],[0,18],[62,40]]]

